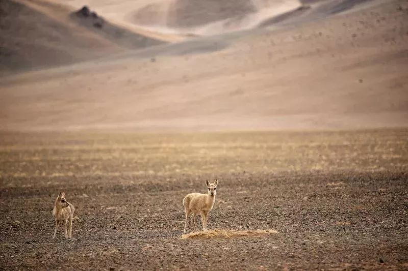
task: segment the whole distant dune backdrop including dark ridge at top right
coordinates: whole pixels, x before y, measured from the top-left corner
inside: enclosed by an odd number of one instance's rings
[[[61,1],[61,0],[60,0]],[[62,2],[62,1],[61,1]],[[167,41],[212,36],[329,17],[378,0],[71,0],[87,3],[112,21]]]

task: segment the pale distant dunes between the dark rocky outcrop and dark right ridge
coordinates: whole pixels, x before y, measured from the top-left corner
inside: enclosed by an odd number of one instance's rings
[[[95,7],[110,20],[126,27],[148,29],[164,35],[216,35],[249,29],[260,22],[301,6],[299,0],[71,0],[79,8],[84,3]]]

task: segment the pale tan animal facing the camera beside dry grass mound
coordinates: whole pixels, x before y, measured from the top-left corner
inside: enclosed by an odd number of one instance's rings
[[[210,184],[210,182],[206,180],[206,184],[208,188],[207,195],[200,193],[191,193],[185,196],[183,199],[184,212],[186,212],[186,223],[184,225],[184,233],[187,232],[187,220],[191,213],[192,213],[191,221],[193,222],[194,230],[197,231],[197,227],[195,226],[194,220],[197,214],[201,215],[202,229],[204,231],[207,230],[208,213],[210,213],[214,205],[215,190],[217,189],[218,179],[216,179],[213,184]]]

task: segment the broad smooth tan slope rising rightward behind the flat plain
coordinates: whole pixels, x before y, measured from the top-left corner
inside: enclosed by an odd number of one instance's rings
[[[4,78],[7,130],[407,126],[408,3]],[[202,44],[213,50],[197,51]],[[223,46],[217,47],[222,44]]]

